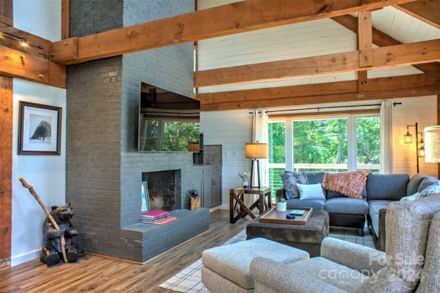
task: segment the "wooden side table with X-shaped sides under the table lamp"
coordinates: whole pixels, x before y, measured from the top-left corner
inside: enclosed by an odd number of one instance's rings
[[[251,204],[249,207],[246,206],[244,200],[245,194],[258,194],[259,198]],[[258,208],[259,214],[261,215],[265,208],[271,207],[271,187],[253,187],[253,188],[243,188],[236,187],[234,189],[229,189],[229,212],[230,212],[230,222],[235,223],[240,218],[244,218],[246,215],[250,215],[252,219],[255,218],[254,213],[252,213],[252,209]],[[265,196],[267,196],[267,204],[265,202]],[[234,201],[236,204],[240,205],[239,214],[234,217]]]

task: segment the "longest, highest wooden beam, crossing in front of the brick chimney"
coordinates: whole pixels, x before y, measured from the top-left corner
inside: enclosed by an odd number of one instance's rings
[[[414,0],[246,0],[54,43],[54,62],[71,65],[252,30],[375,10]],[[73,51],[72,51],[73,50]],[[68,51],[67,53],[65,51]]]

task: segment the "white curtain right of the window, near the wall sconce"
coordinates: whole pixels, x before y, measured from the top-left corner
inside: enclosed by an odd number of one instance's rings
[[[380,106],[380,174],[394,173],[393,102],[386,100]]]

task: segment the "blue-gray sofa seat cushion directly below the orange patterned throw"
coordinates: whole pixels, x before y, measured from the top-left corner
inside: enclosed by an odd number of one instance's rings
[[[325,211],[346,215],[368,215],[369,204],[364,198],[329,198],[325,201]]]

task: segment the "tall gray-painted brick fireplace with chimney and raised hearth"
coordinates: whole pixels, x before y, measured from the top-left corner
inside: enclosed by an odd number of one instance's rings
[[[193,10],[192,0],[71,1],[69,33],[86,36]],[[191,43],[67,67],[66,201],[76,209],[80,250],[142,263],[209,228],[209,209],[188,210],[192,154],[137,152],[140,83],[192,97],[193,67]],[[179,179],[175,208],[170,200],[166,209],[177,220],[141,223],[143,174],[170,170]]]

